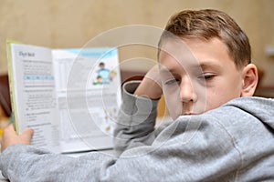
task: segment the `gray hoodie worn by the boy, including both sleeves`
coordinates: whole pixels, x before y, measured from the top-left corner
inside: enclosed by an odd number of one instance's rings
[[[234,99],[154,129],[157,101],[123,86],[114,144],[118,156],[68,157],[7,147],[0,169],[11,181],[274,181],[274,100]]]

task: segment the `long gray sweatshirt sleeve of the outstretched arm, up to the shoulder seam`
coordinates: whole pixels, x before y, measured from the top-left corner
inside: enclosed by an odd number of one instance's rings
[[[132,147],[119,157],[90,152],[74,158],[14,145],[0,155],[0,169],[11,181],[24,182],[214,181],[216,178],[216,181],[228,181],[222,177],[233,178],[241,158],[226,130],[217,126],[213,132],[212,126],[201,118],[188,122],[189,119],[184,117],[167,126],[151,146]]]

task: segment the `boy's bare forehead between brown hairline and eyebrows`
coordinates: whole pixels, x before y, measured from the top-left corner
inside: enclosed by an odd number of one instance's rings
[[[175,65],[187,68],[235,65],[228,55],[227,45],[218,38],[165,40],[159,52],[159,63],[168,69]]]

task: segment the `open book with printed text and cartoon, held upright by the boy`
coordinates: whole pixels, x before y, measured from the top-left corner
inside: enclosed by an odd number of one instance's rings
[[[56,153],[112,147],[121,103],[118,50],[51,49],[7,41],[15,127]]]

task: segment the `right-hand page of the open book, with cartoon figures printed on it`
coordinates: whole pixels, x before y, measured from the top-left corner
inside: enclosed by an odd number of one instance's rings
[[[56,49],[53,59],[62,152],[113,147],[112,132],[121,102],[118,50]]]

